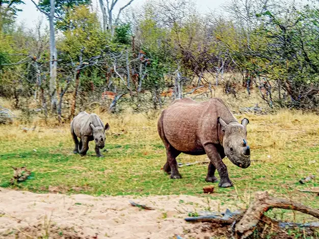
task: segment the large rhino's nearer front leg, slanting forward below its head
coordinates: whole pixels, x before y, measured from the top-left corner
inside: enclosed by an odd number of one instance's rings
[[[222,158],[218,153],[216,147],[213,144],[207,144],[204,148],[211,164],[215,166],[219,173],[219,176],[221,177],[221,181],[218,186],[221,188],[231,187],[232,182],[229,179],[227,167],[223,163]]]

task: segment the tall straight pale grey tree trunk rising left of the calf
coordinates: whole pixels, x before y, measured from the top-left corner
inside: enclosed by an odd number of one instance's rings
[[[50,0],[51,9],[49,14],[49,26],[50,26],[50,98],[51,98],[51,110],[52,113],[57,113],[57,67],[58,56],[56,48],[55,38],[55,26],[54,26],[54,14],[55,14],[55,0]]]

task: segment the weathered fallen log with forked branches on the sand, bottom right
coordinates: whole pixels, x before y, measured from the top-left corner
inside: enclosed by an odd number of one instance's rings
[[[227,236],[234,239],[251,237],[255,230],[259,232],[262,231],[261,235],[263,236],[265,231],[267,231],[267,228],[270,228],[271,232],[277,233],[275,238],[287,238],[287,231],[289,229],[297,228],[310,236],[315,235],[315,233],[317,233],[316,231],[319,230],[319,222],[303,224],[281,222],[265,216],[264,213],[272,208],[294,210],[319,219],[319,210],[290,200],[270,197],[268,192],[257,192],[254,201],[247,210],[237,210],[232,213],[227,209],[225,213],[210,213],[200,217],[185,218],[185,221],[210,222],[214,224],[215,227],[229,226],[229,230],[225,231],[225,234],[228,233]]]

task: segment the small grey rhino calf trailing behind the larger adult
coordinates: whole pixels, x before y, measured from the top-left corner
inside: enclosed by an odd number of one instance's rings
[[[71,135],[75,144],[73,153],[85,156],[89,150],[89,141],[94,140],[96,156],[102,157],[100,149],[105,145],[105,130],[109,129],[109,124],[104,127],[96,114],[88,114],[85,111],[79,113],[71,122]],[[79,142],[77,138],[80,139]]]

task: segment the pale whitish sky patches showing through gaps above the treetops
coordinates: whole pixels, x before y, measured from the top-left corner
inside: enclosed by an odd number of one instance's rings
[[[35,0],[37,2],[37,0]],[[146,1],[151,0],[135,0],[131,6],[141,5]],[[24,0],[25,5],[20,5],[19,8],[22,9],[22,12],[18,14],[17,21],[23,24],[27,28],[33,28],[33,26],[43,18],[43,23],[47,24],[46,18],[43,16],[42,13],[37,11],[34,4],[31,0]],[[97,5],[97,0],[92,0],[93,5]],[[128,0],[119,0],[118,7],[122,7],[128,2]],[[207,12],[209,9],[214,10],[220,8],[220,6],[225,3],[224,0],[195,0],[194,2],[197,3],[197,8],[200,12]],[[100,9],[97,9],[100,12]]]

